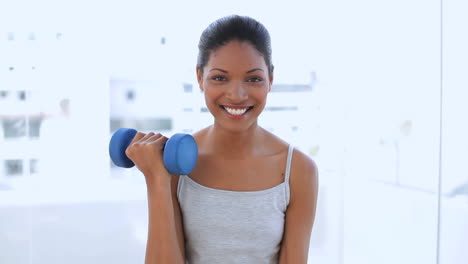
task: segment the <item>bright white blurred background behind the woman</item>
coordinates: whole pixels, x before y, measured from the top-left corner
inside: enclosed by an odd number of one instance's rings
[[[260,124],[319,167],[309,263],[467,263],[467,13],[463,0],[0,0],[0,263],[143,263],[145,183],[111,165],[110,136],[212,122],[197,43],[229,14],[272,37]]]

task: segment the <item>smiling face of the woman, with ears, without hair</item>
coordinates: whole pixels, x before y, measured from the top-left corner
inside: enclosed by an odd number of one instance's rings
[[[239,41],[212,51],[203,74],[197,68],[197,77],[215,125],[233,132],[256,125],[273,81],[262,54]]]

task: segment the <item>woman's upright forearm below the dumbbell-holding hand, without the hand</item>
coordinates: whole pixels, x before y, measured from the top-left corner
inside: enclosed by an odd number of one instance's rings
[[[173,183],[174,179],[147,184],[149,222],[145,264],[185,264],[180,209]]]

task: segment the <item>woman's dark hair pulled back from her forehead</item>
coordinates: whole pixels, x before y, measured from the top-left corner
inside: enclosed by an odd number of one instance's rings
[[[268,72],[273,73],[271,41],[268,30],[258,21],[247,16],[231,15],[211,23],[202,33],[198,43],[197,66],[203,72],[210,54],[231,40],[250,42],[265,59]]]

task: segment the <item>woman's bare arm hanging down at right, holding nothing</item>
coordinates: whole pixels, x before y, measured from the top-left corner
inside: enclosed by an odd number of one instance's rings
[[[293,155],[289,186],[291,195],[279,263],[306,264],[317,205],[318,170],[300,151]]]

